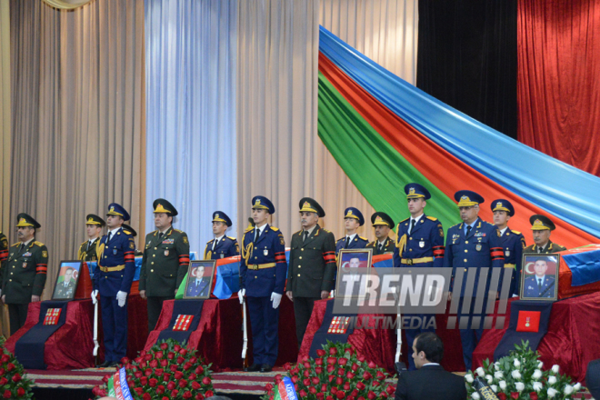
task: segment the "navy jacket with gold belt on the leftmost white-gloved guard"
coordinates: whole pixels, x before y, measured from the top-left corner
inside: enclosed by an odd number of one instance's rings
[[[100,295],[115,296],[117,292],[129,293],[135,275],[135,241],[129,231],[119,228],[108,241],[102,236],[98,245],[98,266],[94,273],[94,290]],[[113,269],[102,271],[100,267]]]

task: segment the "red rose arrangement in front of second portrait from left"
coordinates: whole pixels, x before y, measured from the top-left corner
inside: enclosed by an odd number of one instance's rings
[[[205,365],[195,353],[195,349],[167,339],[135,360],[123,358],[119,368],[125,366],[127,385],[136,400],[203,400],[215,395],[211,365]],[[105,375],[104,384],[94,387],[95,396],[109,395],[111,376]]]

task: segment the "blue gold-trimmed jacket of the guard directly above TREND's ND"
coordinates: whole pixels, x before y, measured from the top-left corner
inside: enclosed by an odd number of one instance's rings
[[[423,215],[408,233],[410,218],[398,223],[394,249],[394,266],[444,266],[444,228],[433,216]],[[400,255],[402,253],[402,255]],[[431,261],[423,262],[423,258]],[[402,260],[405,259],[405,263]],[[414,261],[414,264],[413,264]]]

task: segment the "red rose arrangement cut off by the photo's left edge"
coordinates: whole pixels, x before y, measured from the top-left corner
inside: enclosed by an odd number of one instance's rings
[[[23,376],[23,365],[16,361],[15,355],[5,349],[5,337],[0,336],[0,340],[0,398],[32,398],[32,381]]]

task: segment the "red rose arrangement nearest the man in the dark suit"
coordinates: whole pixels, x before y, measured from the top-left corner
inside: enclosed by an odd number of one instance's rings
[[[390,377],[383,368],[357,355],[352,345],[327,341],[317,358],[305,356],[296,365],[284,365],[298,397],[306,400],[373,400],[393,398],[395,387],[385,382]],[[283,379],[275,375],[275,385]],[[265,386],[263,400],[273,400],[274,386]]]

